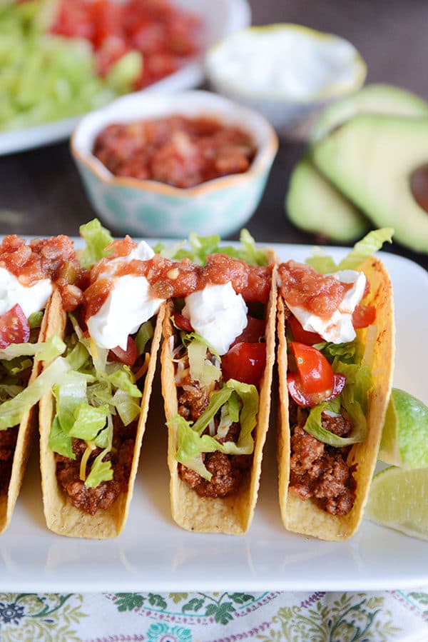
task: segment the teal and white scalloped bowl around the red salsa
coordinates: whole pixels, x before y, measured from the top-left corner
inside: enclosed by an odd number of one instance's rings
[[[113,176],[93,156],[99,132],[109,124],[163,116],[211,116],[248,131],[258,151],[248,171],[180,189],[158,181]],[[85,116],[71,138],[71,152],[93,208],[113,229],[143,236],[229,236],[250,219],[265,189],[277,152],[277,136],[255,111],[208,91],[130,94]]]

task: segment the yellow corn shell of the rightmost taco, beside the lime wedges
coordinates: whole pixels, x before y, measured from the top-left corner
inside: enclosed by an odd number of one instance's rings
[[[287,341],[285,338],[285,314],[282,296],[278,296],[278,371],[280,383],[279,428],[277,459],[279,467],[279,494],[282,521],[285,528],[295,533],[310,535],[323,540],[339,541],[350,538],[362,520],[370,482],[377,461],[382,426],[392,386],[394,367],[394,310],[392,286],[387,271],[378,259],[369,259],[361,269],[370,280],[370,295],[367,303],[376,308],[376,336],[370,339],[370,328],[357,330],[357,337],[372,349],[372,390],[367,407],[367,438],[352,446],[348,463],[357,463],[354,478],[357,496],[350,513],[335,516],[323,511],[311,499],[303,501],[288,493],[290,478],[290,423],[288,419],[287,391]],[[369,339],[369,341],[367,341]],[[369,356],[369,355],[367,355]]]

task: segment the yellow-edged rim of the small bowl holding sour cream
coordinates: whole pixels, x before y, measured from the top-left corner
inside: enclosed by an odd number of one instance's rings
[[[310,34],[312,37],[318,40],[340,40],[349,44],[352,49],[354,49],[352,65],[355,72],[354,76],[352,77],[352,86],[348,84],[345,86],[344,84],[330,83],[324,89],[322,89],[322,91],[315,92],[315,94],[311,94],[305,99],[294,98],[293,96],[287,96],[287,94],[284,94],[283,96],[268,96],[267,94],[264,94],[263,91],[260,91],[259,93],[257,91],[241,91],[231,82],[225,82],[221,78],[220,74],[217,74],[215,71],[213,71],[212,66],[210,66],[210,63],[208,62],[208,59],[210,58],[210,55],[213,53],[213,51],[219,49],[220,46],[223,46],[223,44],[225,44],[228,40],[233,39],[236,36],[245,33],[246,31],[260,33],[262,31],[281,31],[285,29],[290,29],[292,31],[301,31],[305,34]],[[221,92],[227,91],[229,96],[234,95],[237,97],[237,99],[241,100],[290,104],[295,106],[315,106],[317,104],[322,104],[325,101],[330,101],[332,99],[346,96],[347,94],[352,93],[352,91],[357,91],[358,89],[360,89],[360,87],[364,84],[367,76],[367,63],[360,54],[360,51],[357,50],[355,45],[352,44],[350,40],[348,40],[347,38],[343,38],[342,36],[337,36],[337,34],[330,34],[327,31],[319,31],[317,29],[312,29],[311,27],[302,24],[295,24],[292,22],[247,26],[243,27],[243,29],[233,31],[233,33],[231,34],[227,34],[218,42],[210,46],[205,54],[204,68],[205,75],[207,76],[210,83],[215,86],[215,89],[218,89],[218,91]]]

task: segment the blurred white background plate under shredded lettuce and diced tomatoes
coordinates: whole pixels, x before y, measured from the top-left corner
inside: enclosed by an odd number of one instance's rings
[[[205,24],[205,49],[226,34],[242,29],[251,22],[251,11],[247,0],[173,0],[173,2],[183,9],[202,16]],[[160,91],[163,94],[169,94],[172,91],[191,89],[201,84],[203,77],[203,56],[200,56],[194,62],[183,66],[174,74],[170,74],[143,91]],[[69,118],[17,131],[0,131],[0,156],[66,139],[70,136],[78,119],[79,117]]]

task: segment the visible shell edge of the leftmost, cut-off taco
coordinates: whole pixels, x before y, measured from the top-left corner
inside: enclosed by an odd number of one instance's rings
[[[43,320],[41,322],[41,328],[39,332],[39,341],[45,341],[46,338],[46,328],[49,319],[49,309],[51,307],[51,299],[49,299],[46,309],[44,311]],[[31,370],[31,376],[29,378],[29,383],[32,383],[34,379],[41,372],[41,361],[36,361],[34,359],[33,368]],[[18,498],[19,491],[21,490],[22,480],[24,478],[24,473],[26,469],[26,463],[29,458],[29,451],[31,446],[32,438],[34,437],[34,432],[36,430],[36,419],[37,411],[36,405],[30,408],[21,419],[19,426],[16,426],[14,430],[18,431],[18,437],[16,439],[16,446],[14,451],[14,460],[12,462],[11,469],[11,478],[9,480],[9,486],[4,495],[0,496],[0,533],[4,533],[6,528],[9,526],[11,521],[12,513],[14,512],[14,507],[16,499]]]

